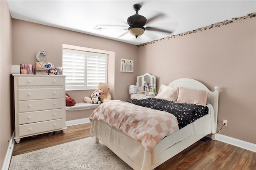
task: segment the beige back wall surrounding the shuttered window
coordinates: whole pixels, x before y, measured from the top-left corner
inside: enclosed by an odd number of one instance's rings
[[[108,84],[112,99],[128,100],[129,85],[136,82],[137,51],[136,45],[95,37],[65,29],[49,27],[22,20],[12,20],[13,24],[13,64],[36,63],[36,52],[46,51],[46,62],[62,66],[62,44],[77,45],[93,49],[114,51],[109,57]],[[134,60],[134,72],[120,72],[120,59]],[[83,102],[84,96],[90,96],[93,90],[68,91],[76,102]],[[67,111],[67,121],[89,117],[92,110]]]

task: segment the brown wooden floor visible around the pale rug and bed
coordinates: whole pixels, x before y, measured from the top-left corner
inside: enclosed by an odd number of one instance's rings
[[[12,155],[31,152],[89,137],[90,123],[69,126],[66,134],[45,134],[21,139]],[[198,141],[155,170],[256,170],[256,153],[220,141]]]

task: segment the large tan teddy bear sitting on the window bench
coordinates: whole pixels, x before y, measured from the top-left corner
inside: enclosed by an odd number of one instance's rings
[[[88,96],[84,97],[84,102],[90,103],[90,100],[93,97],[93,94],[95,92],[100,93],[100,99],[102,103],[108,102],[111,100],[111,95],[109,91],[110,91],[110,87],[108,86],[108,84],[99,82],[98,88],[92,92],[91,97],[88,97]]]

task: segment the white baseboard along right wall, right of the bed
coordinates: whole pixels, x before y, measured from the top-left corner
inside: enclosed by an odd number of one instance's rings
[[[249,143],[246,141],[242,141],[242,140],[228,137],[228,136],[221,135],[221,134],[216,134],[216,140],[222,141],[224,143],[228,143],[230,145],[234,145],[236,147],[240,147],[240,148],[243,148],[246,150],[250,150],[252,152],[256,152],[256,144],[254,144],[254,143]]]

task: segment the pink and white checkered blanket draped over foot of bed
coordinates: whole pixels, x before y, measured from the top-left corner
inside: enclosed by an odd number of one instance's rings
[[[90,121],[104,121],[140,142],[148,151],[164,137],[178,131],[174,115],[120,100],[101,104],[90,116]]]

